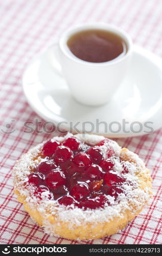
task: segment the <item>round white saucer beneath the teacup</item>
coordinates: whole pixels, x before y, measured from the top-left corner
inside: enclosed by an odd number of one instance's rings
[[[49,58],[51,50],[37,56],[22,79],[29,104],[43,119],[55,124],[61,122],[60,128],[68,131],[75,126],[77,130],[73,132],[113,138],[143,135],[162,126],[162,60],[159,57],[135,46],[127,77],[111,102],[91,107],[73,99],[65,80],[53,68]],[[123,119],[129,122],[126,132]],[[97,125],[97,122],[102,123]]]

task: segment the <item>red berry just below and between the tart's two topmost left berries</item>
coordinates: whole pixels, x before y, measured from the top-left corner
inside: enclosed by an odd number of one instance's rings
[[[58,146],[55,151],[54,159],[57,163],[64,163],[72,158],[72,151],[67,146]]]

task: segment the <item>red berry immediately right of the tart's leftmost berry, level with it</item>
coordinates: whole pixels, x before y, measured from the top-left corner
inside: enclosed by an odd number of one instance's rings
[[[55,189],[64,185],[66,183],[66,178],[61,170],[51,170],[50,173],[48,173],[45,182],[50,188]]]

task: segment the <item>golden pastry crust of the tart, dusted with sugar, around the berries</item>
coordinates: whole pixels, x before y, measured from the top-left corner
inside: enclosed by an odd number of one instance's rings
[[[69,135],[67,135],[69,136]],[[75,135],[83,142],[92,146],[104,139],[103,136]],[[54,137],[63,140],[63,137]],[[25,182],[32,169],[41,161],[41,148],[43,143],[29,150],[16,162],[14,166],[14,193],[17,200],[24,205],[31,218],[44,227],[45,232],[56,237],[74,240],[99,239],[109,236],[123,229],[135,216],[137,216],[152,197],[152,184],[149,169],[144,162],[127,148],[121,148],[114,142],[123,161],[135,165],[133,174],[138,188],[132,198],[126,199],[119,205],[108,206],[105,209],[64,209],[55,204],[55,201],[31,199],[30,191],[25,188]],[[78,217],[78,218],[77,218]]]

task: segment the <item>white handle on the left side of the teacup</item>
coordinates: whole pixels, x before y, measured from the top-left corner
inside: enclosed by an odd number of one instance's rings
[[[59,49],[58,49],[58,45],[54,45],[53,47],[51,47],[48,51],[48,58],[50,60],[50,64],[52,66],[52,68],[55,70],[55,72],[62,76],[62,69],[61,69],[61,65],[60,65],[60,56],[59,56]]]

